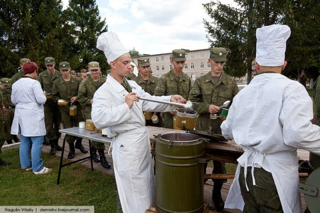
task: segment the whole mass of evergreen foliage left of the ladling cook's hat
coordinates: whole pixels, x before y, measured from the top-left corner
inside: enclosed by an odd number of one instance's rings
[[[104,54],[95,47],[97,36],[107,31],[106,20],[100,19],[95,0],[69,0],[65,10],[61,0],[1,0],[0,76],[11,77],[24,57],[39,70],[48,56],[56,64],[68,61],[77,71],[94,60],[106,70]]]

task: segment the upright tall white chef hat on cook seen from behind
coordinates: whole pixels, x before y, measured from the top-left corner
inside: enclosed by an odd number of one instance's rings
[[[255,61],[261,66],[283,65],[285,42],[290,33],[287,25],[273,24],[257,28]]]

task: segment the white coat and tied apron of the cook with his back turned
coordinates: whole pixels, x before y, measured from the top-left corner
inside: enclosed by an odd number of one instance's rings
[[[312,117],[312,100],[305,88],[281,74],[259,74],[234,97],[221,130],[244,153],[237,160],[225,208],[243,210],[238,183],[242,166],[270,172],[283,212],[301,212],[296,150],[320,154],[320,127],[311,124]]]

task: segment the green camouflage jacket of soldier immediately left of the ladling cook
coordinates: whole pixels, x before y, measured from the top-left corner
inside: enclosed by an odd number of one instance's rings
[[[94,92],[105,82],[105,78],[100,77],[98,82],[94,82],[91,77],[83,79],[79,85],[77,101],[81,104],[85,119],[91,119],[91,99]]]

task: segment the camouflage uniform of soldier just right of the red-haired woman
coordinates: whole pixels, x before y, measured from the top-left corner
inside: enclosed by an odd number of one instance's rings
[[[47,70],[41,72],[37,78],[37,80],[41,84],[41,88],[47,94],[51,93],[52,95],[52,87],[53,82],[61,77],[61,72],[54,70],[52,75],[49,74]],[[60,127],[60,115],[57,104],[52,100],[51,95],[46,96],[46,102],[44,106],[44,122],[46,129],[46,139],[56,140],[59,138],[59,127]]]

